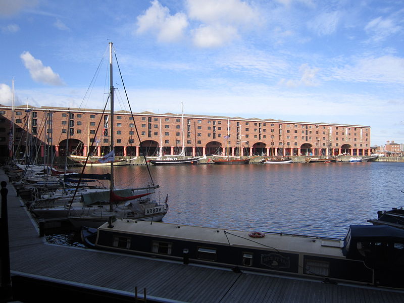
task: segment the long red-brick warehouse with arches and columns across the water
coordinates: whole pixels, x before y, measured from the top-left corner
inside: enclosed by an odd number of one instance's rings
[[[308,123],[224,116],[114,114],[116,156],[367,156],[370,126]],[[45,154],[106,155],[110,149],[109,113],[0,105],[0,156]],[[140,144],[141,142],[141,144]],[[141,146],[140,146],[141,145]],[[141,150],[142,149],[142,150]]]

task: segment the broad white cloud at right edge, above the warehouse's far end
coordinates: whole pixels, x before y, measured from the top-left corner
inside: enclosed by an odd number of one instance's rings
[[[404,59],[393,56],[364,58],[333,72],[333,78],[344,81],[403,84]]]

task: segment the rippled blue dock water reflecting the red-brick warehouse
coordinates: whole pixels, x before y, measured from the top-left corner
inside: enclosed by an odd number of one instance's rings
[[[165,222],[342,238],[378,210],[401,207],[403,163],[150,166],[169,196]],[[105,173],[108,168],[88,168]],[[145,166],[115,169],[118,187],[149,182]],[[108,187],[109,184],[106,184]]]

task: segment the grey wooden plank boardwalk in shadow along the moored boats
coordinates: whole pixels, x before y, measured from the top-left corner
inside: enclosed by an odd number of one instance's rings
[[[2,170],[0,181],[8,181]],[[404,302],[402,291],[235,273],[230,269],[49,244],[39,237],[35,220],[12,184],[8,183],[7,188],[12,277],[103,290],[113,297],[122,294],[133,298],[135,287],[141,293],[146,288],[147,301],[154,302]]]

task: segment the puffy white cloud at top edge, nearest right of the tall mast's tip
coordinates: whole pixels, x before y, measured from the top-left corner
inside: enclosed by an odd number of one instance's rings
[[[182,13],[170,15],[167,7],[154,0],[145,13],[137,17],[137,30],[139,34],[154,31],[159,41],[172,42],[183,37],[184,30],[188,26],[187,18]]]

